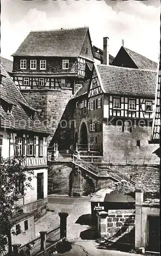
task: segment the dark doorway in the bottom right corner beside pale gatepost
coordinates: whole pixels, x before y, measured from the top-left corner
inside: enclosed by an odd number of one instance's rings
[[[159,252],[160,218],[148,216],[148,250]]]

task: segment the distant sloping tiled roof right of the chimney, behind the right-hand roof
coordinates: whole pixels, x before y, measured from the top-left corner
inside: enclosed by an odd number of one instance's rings
[[[150,69],[150,70],[156,70],[157,69],[157,63],[152,61],[151,59],[148,59],[144,57],[143,55],[133,52],[125,47],[123,47],[125,51],[128,53],[130,58],[135,62],[137,67],[139,69]]]

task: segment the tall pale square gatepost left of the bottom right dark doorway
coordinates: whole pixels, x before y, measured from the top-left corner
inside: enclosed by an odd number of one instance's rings
[[[141,189],[136,189],[136,224],[135,224],[135,247],[142,247],[142,203],[143,193]]]

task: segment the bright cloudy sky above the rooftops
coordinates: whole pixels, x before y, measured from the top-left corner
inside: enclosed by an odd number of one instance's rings
[[[160,40],[159,0],[2,0],[1,56],[12,59],[31,30],[88,26],[92,44],[103,49],[110,37],[110,54],[124,46],[154,61]],[[47,39],[47,38],[46,38]]]

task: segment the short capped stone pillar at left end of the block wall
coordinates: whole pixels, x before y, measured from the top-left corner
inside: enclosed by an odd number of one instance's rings
[[[98,217],[98,236],[103,237],[106,236],[106,230],[107,230],[107,217],[108,212],[106,211],[99,211],[97,212]]]

